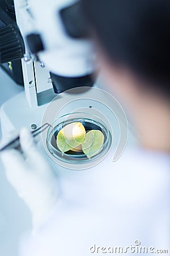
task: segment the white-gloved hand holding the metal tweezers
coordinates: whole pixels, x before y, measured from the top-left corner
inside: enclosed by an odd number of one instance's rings
[[[8,181],[31,210],[35,230],[57,201],[57,180],[26,128],[20,131],[20,144],[23,154],[6,150],[1,153],[1,159]]]

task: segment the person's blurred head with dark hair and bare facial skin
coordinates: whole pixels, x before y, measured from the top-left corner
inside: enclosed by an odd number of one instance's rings
[[[170,110],[170,1],[82,0],[82,7],[109,89],[148,141],[160,125],[158,137]]]

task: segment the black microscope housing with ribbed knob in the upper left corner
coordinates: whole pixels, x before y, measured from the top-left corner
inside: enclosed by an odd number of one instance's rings
[[[21,59],[25,48],[16,24],[14,0],[0,0],[0,65],[20,85],[24,84]]]

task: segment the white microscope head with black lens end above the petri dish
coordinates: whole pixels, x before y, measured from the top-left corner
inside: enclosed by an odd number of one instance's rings
[[[29,0],[28,10],[32,27],[25,33],[27,49],[50,72],[54,92],[92,86],[94,54],[80,2]]]

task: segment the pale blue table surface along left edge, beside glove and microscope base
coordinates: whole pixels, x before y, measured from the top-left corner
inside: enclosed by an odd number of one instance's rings
[[[0,106],[9,98],[23,91],[0,68]],[[1,117],[0,117],[1,121]],[[0,129],[1,140],[1,129]],[[21,234],[31,225],[30,213],[15,190],[7,182],[5,170],[0,160],[0,255],[18,256]]]

